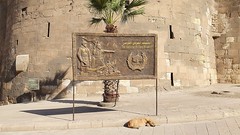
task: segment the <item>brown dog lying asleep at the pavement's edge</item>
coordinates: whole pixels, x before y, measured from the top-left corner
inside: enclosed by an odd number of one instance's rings
[[[139,129],[139,127],[141,127],[141,126],[155,127],[155,122],[153,122],[149,118],[135,118],[135,119],[131,119],[130,121],[128,121],[126,123],[126,126],[128,128],[137,128],[137,129]]]

